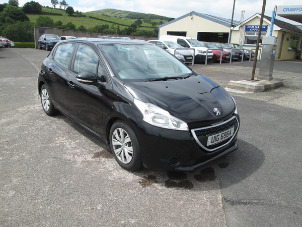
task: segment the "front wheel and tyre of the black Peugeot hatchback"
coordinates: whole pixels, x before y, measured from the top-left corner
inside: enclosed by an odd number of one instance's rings
[[[142,167],[137,138],[124,121],[116,121],[110,129],[110,147],[118,164],[128,171]]]

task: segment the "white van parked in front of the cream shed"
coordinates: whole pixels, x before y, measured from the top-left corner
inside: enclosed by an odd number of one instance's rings
[[[195,49],[195,63],[205,62],[206,50],[207,48],[201,44],[197,39],[191,37],[177,36],[177,35],[162,35],[160,37],[162,41],[173,41],[185,48],[194,48]],[[208,50],[207,61],[212,62],[213,52]]]

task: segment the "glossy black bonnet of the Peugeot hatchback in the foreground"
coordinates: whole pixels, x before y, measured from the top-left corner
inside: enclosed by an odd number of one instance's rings
[[[124,86],[134,98],[153,103],[187,123],[217,120],[235,110],[229,93],[202,75],[178,80],[124,83]]]

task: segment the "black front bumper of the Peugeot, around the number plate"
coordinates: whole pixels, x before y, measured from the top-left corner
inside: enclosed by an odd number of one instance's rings
[[[225,126],[226,128],[236,127],[234,136],[228,141],[213,145],[213,149],[210,151],[199,145],[200,142],[203,143],[203,139],[197,138],[199,141],[196,141],[191,129],[190,131],[168,130],[149,125],[143,121],[139,122],[135,130],[138,141],[140,141],[139,146],[143,165],[146,168],[157,170],[193,171],[235,151],[238,148],[237,133],[240,124],[239,117],[235,116],[235,118],[237,121],[236,126]],[[223,130],[225,128],[217,128],[205,136],[207,137]],[[223,145],[224,143],[225,145]]]

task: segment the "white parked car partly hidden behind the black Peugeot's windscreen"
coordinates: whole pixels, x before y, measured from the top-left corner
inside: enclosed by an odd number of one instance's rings
[[[184,62],[185,64],[192,64],[193,61],[193,53],[188,50],[188,49],[183,49],[181,45],[177,44],[176,42],[173,41],[161,41],[161,40],[148,40],[147,42],[153,43],[168,52],[172,53],[173,55]],[[182,49],[177,49],[177,48],[182,48]],[[177,49],[177,50],[175,50]],[[175,53],[174,53],[175,52]]]

